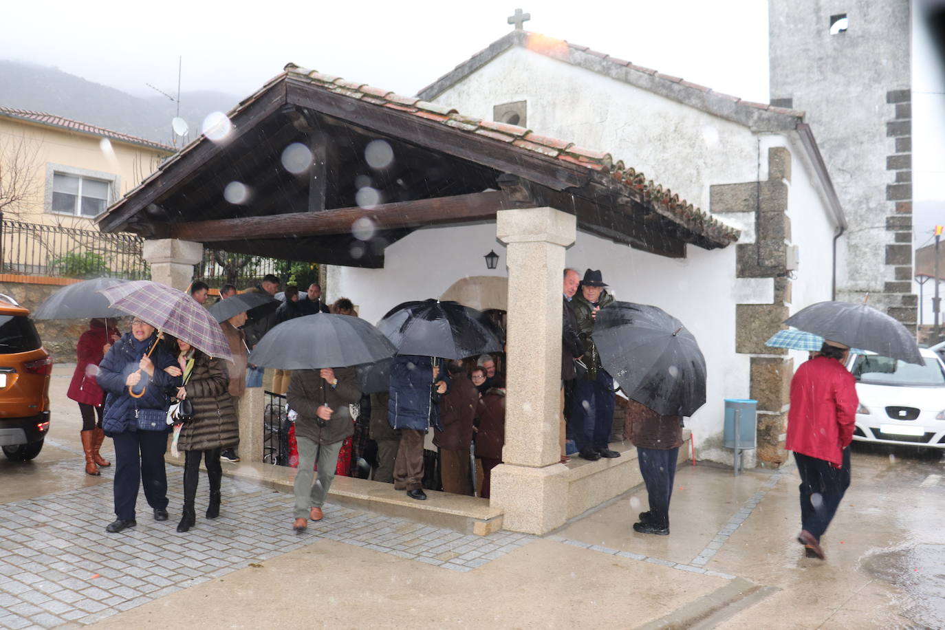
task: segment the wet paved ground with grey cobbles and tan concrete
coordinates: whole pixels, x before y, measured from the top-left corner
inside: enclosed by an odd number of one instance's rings
[[[178,534],[169,466],[171,519],[151,519],[142,497],[137,528],[109,535],[111,469],[83,472],[68,375],[57,366],[37,460],[0,463],[0,628],[945,627],[940,453],[854,448],[823,562],[795,540],[793,467],[679,468],[670,536],[632,532],[639,491],[548,536],[335,505],[296,536],[289,495],[231,478],[220,519],[202,519],[201,485],[197,527]]]

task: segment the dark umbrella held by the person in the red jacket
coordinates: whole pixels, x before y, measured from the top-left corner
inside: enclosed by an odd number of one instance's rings
[[[896,319],[867,304],[817,302],[784,323],[851,348],[870,350],[906,363],[925,364],[915,335]]]

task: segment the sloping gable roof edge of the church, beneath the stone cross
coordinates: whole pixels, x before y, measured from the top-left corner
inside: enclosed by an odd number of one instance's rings
[[[707,111],[720,118],[744,125],[752,131],[792,130],[803,122],[803,111],[773,107],[766,103],[754,103],[738,96],[714,92],[703,85],[683,80],[680,77],[663,75],[651,68],[610,57],[606,53],[592,50],[587,46],[556,40],[525,30],[513,30],[505,37],[491,43],[489,47],[479,51],[469,60],[463,61],[452,71],[423,88],[418,95],[424,100],[433,100],[509,48],[516,46],[628,83],[648,92],[660,94],[697,110]]]

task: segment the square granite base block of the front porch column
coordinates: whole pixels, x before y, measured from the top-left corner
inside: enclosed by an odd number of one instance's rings
[[[504,513],[503,529],[546,534],[568,519],[568,468],[500,464],[492,468],[490,505]]]

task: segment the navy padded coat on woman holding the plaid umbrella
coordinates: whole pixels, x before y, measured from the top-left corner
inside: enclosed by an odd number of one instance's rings
[[[148,338],[146,348],[151,347],[155,336],[156,333]],[[164,371],[164,367],[176,366],[177,361],[170,352],[159,346],[151,353],[154,376],[148,376],[145,371],[142,371],[141,381],[134,387],[137,392],[141,390],[142,385],[145,385],[144,396],[139,399],[132,398],[125,381],[131,372],[138,369],[138,363],[144,355],[145,352],[135,349],[134,337],[130,332],[126,332],[125,336],[112,345],[112,349],[98,364],[96,381],[98,386],[108,393],[105,399],[105,416],[102,418],[102,428],[105,429],[106,434],[137,431],[137,425],[134,422],[135,409],[167,411],[170,405],[168,391],[180,387],[182,383],[180,376],[174,377]]]

